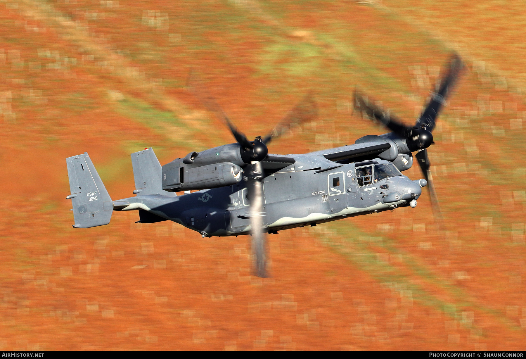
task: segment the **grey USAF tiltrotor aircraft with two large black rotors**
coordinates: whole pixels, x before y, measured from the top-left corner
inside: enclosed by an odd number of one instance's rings
[[[448,89],[462,68],[451,58],[428,105],[408,127],[389,111],[355,93],[355,109],[379,121],[391,132],[358,138],[355,144],[321,151],[276,155],[267,145],[292,124],[312,121],[317,107],[307,95],[271,132],[254,141],[238,131],[190,77],[189,88],[210,111],[219,113],[236,143],[190,152],[161,166],[152,148],[131,154],[134,197],[113,201],[87,153],[67,158],[75,228],[109,223],[113,211],[139,212],[140,223],[174,221],[203,237],[251,235],[254,274],[268,276],[266,236],[289,228],[321,223],[395,208],[416,207],[421,188],[432,178],[427,147]],[[402,172],[413,164],[413,152],[426,179],[412,181]],[[190,193],[191,190],[198,190]],[[177,196],[176,192],[185,191]],[[431,193],[433,203],[436,196]],[[438,209],[438,204],[437,204]]]

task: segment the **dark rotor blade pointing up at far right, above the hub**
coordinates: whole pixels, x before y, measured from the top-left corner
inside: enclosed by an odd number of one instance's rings
[[[460,71],[463,68],[462,59],[457,53],[454,53],[450,59],[450,65],[448,72],[444,75],[440,81],[440,87],[437,93],[431,94],[431,99],[428,105],[417,119],[415,127],[425,127],[428,131],[432,132],[436,126],[436,118],[440,109],[446,104],[446,98],[450,89],[457,82]]]

